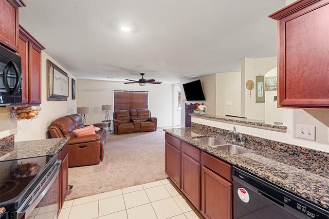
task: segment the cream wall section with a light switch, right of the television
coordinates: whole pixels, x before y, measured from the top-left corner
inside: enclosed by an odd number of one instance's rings
[[[231,102],[227,106],[226,102]],[[216,74],[216,115],[241,115],[241,72]]]

